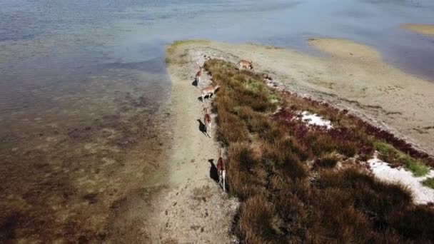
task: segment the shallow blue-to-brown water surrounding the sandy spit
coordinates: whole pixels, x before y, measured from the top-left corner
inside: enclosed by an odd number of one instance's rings
[[[406,23],[434,2],[0,0],[0,242],[109,235],[170,147],[164,44],[347,38],[434,81],[434,38]]]

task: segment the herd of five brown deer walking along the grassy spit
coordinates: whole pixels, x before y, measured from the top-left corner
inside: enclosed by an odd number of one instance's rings
[[[195,81],[196,81],[196,86],[199,87],[199,85],[201,84],[203,66],[201,66],[198,61],[196,63],[199,66],[199,70],[196,72]],[[252,61],[241,60],[238,62],[238,68],[239,69],[242,69],[242,68],[253,69]],[[218,85],[206,86],[206,87],[202,88],[201,89],[202,102],[203,103],[205,102],[206,96],[208,96],[208,99],[211,98],[211,96],[214,96],[214,94],[216,93],[218,88],[220,88],[220,86],[218,86]],[[206,136],[211,137],[211,123],[212,123],[211,113],[208,111],[208,108],[205,106],[203,107],[203,113],[204,113],[203,123],[205,124]],[[226,187],[225,187],[226,163],[225,163],[225,160],[223,159],[223,155],[221,153],[221,148],[218,149],[217,172],[218,172],[218,184],[221,185],[221,187],[223,188],[223,192],[224,192],[224,191],[226,191]]]

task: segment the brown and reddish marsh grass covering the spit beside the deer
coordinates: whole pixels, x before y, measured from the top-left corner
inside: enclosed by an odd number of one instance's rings
[[[243,243],[434,240],[433,208],[363,167],[377,150],[422,174],[418,167],[433,165],[426,154],[347,111],[273,91],[261,74],[216,59],[205,68],[221,86],[213,110],[228,152],[228,186],[242,201],[234,231]],[[333,128],[307,125],[301,111]]]

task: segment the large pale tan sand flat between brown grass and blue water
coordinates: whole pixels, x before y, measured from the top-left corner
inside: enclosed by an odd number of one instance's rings
[[[321,56],[274,46],[185,42],[178,49],[200,51],[236,63],[253,60],[276,86],[328,101],[388,129],[434,154],[434,83],[385,63],[375,49],[343,39],[309,39]]]

